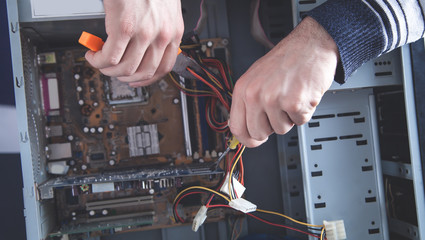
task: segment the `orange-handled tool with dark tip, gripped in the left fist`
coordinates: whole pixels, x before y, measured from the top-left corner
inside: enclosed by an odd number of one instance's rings
[[[103,40],[100,37],[88,33],[86,31],[83,31],[81,33],[78,42],[94,52],[100,51],[104,44]],[[179,48],[177,52],[176,63],[174,64],[172,71],[183,78],[196,79],[189,71],[187,71],[187,68],[191,68],[195,72],[202,72],[201,66],[199,66],[199,64],[192,58],[184,55],[182,53],[182,50]]]

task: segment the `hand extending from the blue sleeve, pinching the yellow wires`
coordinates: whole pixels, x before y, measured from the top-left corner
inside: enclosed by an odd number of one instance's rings
[[[305,18],[236,82],[230,130],[247,147],[308,122],[332,84],[338,48],[314,19]]]

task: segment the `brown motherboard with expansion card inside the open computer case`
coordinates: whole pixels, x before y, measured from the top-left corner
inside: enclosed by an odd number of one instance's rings
[[[211,56],[217,48],[227,60],[223,42],[203,41],[203,51]],[[93,68],[85,52],[37,55],[49,175],[39,198],[54,202],[58,221],[50,237],[180,225],[173,210],[193,218],[208,196],[173,209],[176,194],[194,185],[216,188],[224,175],[224,163],[215,166],[226,136],[206,123],[205,100],[184,95],[184,79],[172,75],[132,88]],[[226,211],[213,211],[208,221],[223,220]]]

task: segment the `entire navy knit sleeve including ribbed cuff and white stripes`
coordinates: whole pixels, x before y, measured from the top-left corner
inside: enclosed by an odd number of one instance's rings
[[[332,36],[340,53],[335,80],[425,34],[425,0],[328,0],[306,13]]]

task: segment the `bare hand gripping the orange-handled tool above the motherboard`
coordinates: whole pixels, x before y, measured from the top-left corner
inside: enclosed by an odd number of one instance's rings
[[[108,38],[87,61],[108,76],[148,85],[171,71],[184,24],[180,0],[104,0]]]

